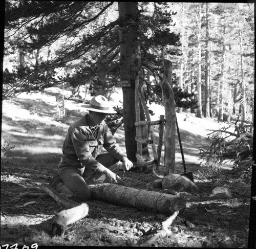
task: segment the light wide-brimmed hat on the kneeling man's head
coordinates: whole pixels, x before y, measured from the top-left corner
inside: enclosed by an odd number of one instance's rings
[[[103,112],[104,114],[116,114],[116,111],[110,106],[108,99],[102,95],[95,96],[91,99],[89,105],[81,105],[88,110]]]

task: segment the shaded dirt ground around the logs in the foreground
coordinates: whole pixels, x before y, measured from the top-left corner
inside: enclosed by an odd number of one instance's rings
[[[56,212],[63,208],[51,197],[11,198],[26,191],[41,192],[37,187],[51,179],[52,165],[28,168],[26,160],[13,163],[2,159],[1,183],[1,244],[138,246],[160,229],[164,214],[137,210],[99,200],[88,201],[89,215],[68,226],[62,237],[51,236],[51,224]],[[35,174],[30,174],[34,172]],[[54,172],[51,173],[51,175]],[[123,178],[122,171],[116,173]],[[28,178],[28,175],[30,177]],[[196,175],[195,175],[196,176]],[[199,175],[198,175],[199,176]],[[202,176],[201,176],[202,177]],[[201,178],[200,177],[200,178]],[[125,186],[146,189],[157,176],[125,172]],[[217,180],[195,180],[197,193],[179,193],[187,200],[186,210],[170,225],[171,235],[153,245],[163,247],[234,247],[246,248],[249,224],[250,185],[228,183],[230,199],[210,199]],[[93,183],[90,183],[93,184]],[[162,191],[162,189],[148,189]],[[27,207],[20,207],[34,201]]]

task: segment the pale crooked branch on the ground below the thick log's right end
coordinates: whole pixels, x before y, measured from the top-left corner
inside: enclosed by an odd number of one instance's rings
[[[141,243],[140,246],[150,246],[152,243],[154,243],[160,237],[171,234],[172,231],[170,231],[168,229],[168,227],[169,227],[170,224],[173,223],[174,219],[176,218],[176,216],[178,214],[179,214],[179,211],[175,211],[172,216],[170,216],[168,219],[164,220],[161,224],[161,230],[158,230],[155,235],[153,235],[150,239]]]

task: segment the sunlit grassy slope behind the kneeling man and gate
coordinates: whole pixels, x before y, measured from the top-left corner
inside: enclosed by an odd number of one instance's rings
[[[50,88],[44,94],[22,94],[11,101],[3,102],[2,138],[9,141],[15,148],[12,156],[29,157],[32,161],[50,160],[52,155],[61,154],[61,146],[69,125],[82,115],[86,109],[72,100],[66,101],[66,122],[57,121],[57,108],[54,94],[57,88]],[[66,92],[66,96],[70,96]],[[120,93],[112,96],[113,105],[120,105]],[[150,107],[155,113],[152,120],[164,115],[164,108],[159,105]],[[217,129],[220,124],[212,119],[198,119],[188,113],[177,114],[181,133],[182,147],[186,163],[197,164],[199,149],[207,143],[206,129]],[[158,142],[158,127],[154,126]],[[124,130],[120,127],[115,139],[125,151]],[[148,146],[152,154],[151,146]],[[164,147],[162,147],[162,163]],[[181,164],[181,153],[176,134],[176,163]]]

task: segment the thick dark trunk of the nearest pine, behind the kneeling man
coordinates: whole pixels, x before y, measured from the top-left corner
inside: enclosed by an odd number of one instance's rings
[[[139,79],[141,69],[140,45],[138,42],[138,2],[118,2],[120,20],[120,77]],[[127,157],[136,162],[137,145],[135,141],[135,90],[123,87],[123,123]]]

